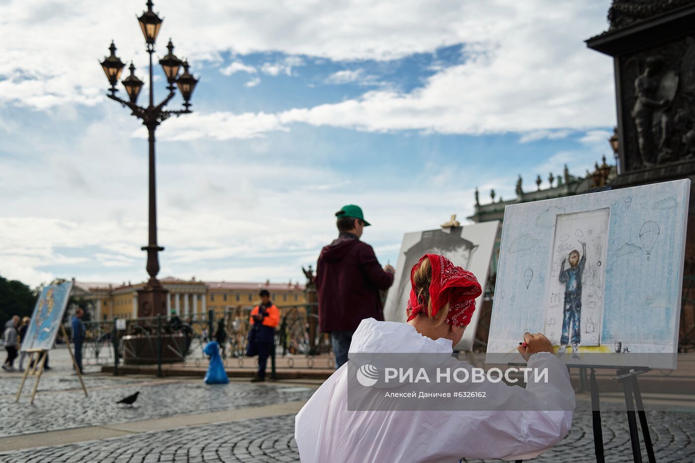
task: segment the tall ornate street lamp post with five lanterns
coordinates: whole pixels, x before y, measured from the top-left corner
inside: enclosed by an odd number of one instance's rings
[[[132,114],[142,120],[142,124],[147,127],[149,133],[149,241],[147,246],[142,247],[143,251],[147,251],[147,273],[149,280],[145,289],[138,291],[138,316],[153,316],[157,314],[166,314],[166,296],[167,291],[163,288],[157,279],[159,273],[159,257],[158,252],[164,248],[157,244],[157,202],[156,202],[156,175],[154,162],[154,131],[159,124],[172,115],[179,116],[181,114],[191,113],[190,111],[190,96],[193,94],[197,79],[188,72],[188,63],[179,60],[174,55],[174,45],[171,40],[167,44],[169,53],[166,54],[159,64],[162,66],[164,74],[169,85],[169,95],[165,97],[159,104],[154,104],[154,86],[152,85],[152,54],[154,54],[154,43],[156,42],[159,29],[162,26],[162,19],[152,11],[152,1],[147,1],[147,11],[138,17],[142,34],[145,35],[147,43],[147,53],[149,54],[149,104],[138,106],[138,95],[142,90],[142,81],[135,75],[135,66],[130,65],[130,75],[122,80],[129,100],[126,101],[116,96],[118,91],[116,86],[120,79],[121,72],[124,68],[124,63],[116,56],[116,47],[111,42],[111,55],[104,58],[101,62],[101,67],[104,68],[104,73],[108,82],[111,83],[111,88],[108,92],[108,97],[118,101],[124,107],[130,108]],[[179,75],[179,70],[183,67],[183,74]],[[166,111],[164,106],[176,95],[176,89],[179,88],[183,97],[183,109],[178,111]]]

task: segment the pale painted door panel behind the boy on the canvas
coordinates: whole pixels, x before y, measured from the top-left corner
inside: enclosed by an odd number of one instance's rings
[[[553,346],[600,346],[609,209],[558,214],[546,282]]]

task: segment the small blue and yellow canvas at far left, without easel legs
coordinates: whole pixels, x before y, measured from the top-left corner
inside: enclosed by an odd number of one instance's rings
[[[51,350],[63,321],[72,282],[46,286],[36,301],[22,350]]]

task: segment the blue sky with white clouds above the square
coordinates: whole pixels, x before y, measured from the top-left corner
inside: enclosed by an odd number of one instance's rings
[[[147,140],[98,63],[114,40],[145,78],[144,3],[0,0],[3,277],[145,277]],[[301,280],[348,203],[395,263],[405,232],[470,215],[476,186],[582,174],[615,122],[612,60],[583,42],[609,5],[155,2],[158,55],[171,37],[200,77],[195,113],[157,131],[160,276]]]

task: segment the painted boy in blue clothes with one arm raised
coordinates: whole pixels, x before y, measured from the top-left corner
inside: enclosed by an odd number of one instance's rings
[[[580,241],[580,243],[582,243]],[[565,268],[569,261],[569,268]],[[567,345],[572,342],[572,353],[576,354],[579,350],[579,343],[582,342],[582,331],[580,321],[582,319],[582,274],[584,264],[587,262],[587,243],[582,243],[582,259],[579,251],[573,250],[569,253],[568,259],[562,261],[560,266],[560,283],[565,284],[564,309],[562,311],[562,336],[560,336],[559,352],[564,354]],[[571,339],[570,339],[571,332]]]

